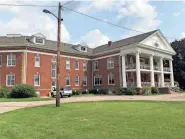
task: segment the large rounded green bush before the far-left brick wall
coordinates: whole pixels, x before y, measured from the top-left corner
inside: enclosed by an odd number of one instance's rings
[[[30,98],[37,97],[36,90],[33,86],[27,84],[15,85],[9,94],[10,98]]]

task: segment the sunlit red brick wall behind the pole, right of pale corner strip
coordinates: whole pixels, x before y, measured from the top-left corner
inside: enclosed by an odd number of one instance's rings
[[[40,56],[40,67],[35,67],[35,56]],[[44,55],[44,54],[36,54],[36,53],[28,53],[27,54],[27,84],[34,85],[34,74],[39,73],[40,74],[40,86],[36,87],[38,91],[40,92],[41,96],[48,96],[49,92],[51,90],[51,83],[52,79],[51,78],[51,59],[54,56],[52,55]],[[91,88],[92,82],[91,82],[91,63],[90,61],[88,62],[88,68],[87,71],[83,71],[83,62],[84,59],[76,59],[76,58],[69,58],[70,59],[70,66],[71,69],[67,70],[66,69],[66,59],[67,57],[61,57],[60,59],[60,86],[65,87],[66,86],[66,76],[69,74],[70,75],[70,84],[71,88],[74,90],[85,90],[87,88]],[[79,61],[79,70],[75,70],[75,61]],[[74,79],[75,76],[79,76],[79,81],[80,84],[79,86],[75,86]],[[87,76],[87,86],[83,87],[82,86],[82,79],[83,76]]]

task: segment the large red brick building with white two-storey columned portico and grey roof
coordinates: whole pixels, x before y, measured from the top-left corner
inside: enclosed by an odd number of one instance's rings
[[[56,49],[57,43],[41,33],[0,37],[0,85],[30,84],[41,96],[48,96],[56,85]],[[94,49],[62,43],[60,84],[73,90],[111,92],[129,85],[174,86],[174,54],[159,30]]]

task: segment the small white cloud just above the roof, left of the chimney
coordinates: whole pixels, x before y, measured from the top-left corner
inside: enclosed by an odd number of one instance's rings
[[[95,29],[82,36],[80,40],[81,42],[85,42],[90,48],[95,48],[99,45],[106,44],[109,38],[98,29]]]

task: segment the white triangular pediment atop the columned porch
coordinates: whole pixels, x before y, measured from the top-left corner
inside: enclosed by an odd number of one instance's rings
[[[144,39],[143,41],[141,41],[140,44],[144,44],[146,46],[153,47],[156,49],[169,51],[175,54],[175,51],[159,30],[150,35],[149,37],[147,37],[146,39]]]

